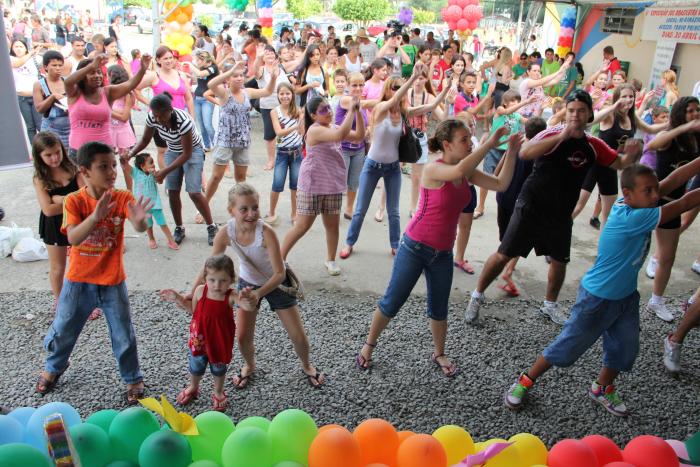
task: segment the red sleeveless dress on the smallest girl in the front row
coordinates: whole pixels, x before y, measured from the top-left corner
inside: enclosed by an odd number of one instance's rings
[[[206,355],[209,363],[228,365],[233,355],[233,338],[236,324],[233,320],[233,307],[229,305],[226,292],[223,300],[207,297],[207,285],[204,285],[202,298],[190,322],[190,339],[187,345],[192,355]]]

